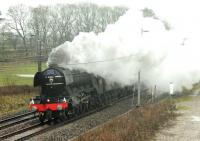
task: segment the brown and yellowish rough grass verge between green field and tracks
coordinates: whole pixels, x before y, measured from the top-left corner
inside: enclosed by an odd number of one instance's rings
[[[29,99],[38,90],[30,86],[0,87],[0,116],[28,109]]]

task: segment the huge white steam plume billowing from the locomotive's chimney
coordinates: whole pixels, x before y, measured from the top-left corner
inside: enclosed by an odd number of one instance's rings
[[[85,69],[122,84],[136,81],[141,70],[143,82],[163,90],[170,82],[177,89],[188,86],[200,78],[200,11],[189,9],[190,3],[173,0],[156,6],[147,1],[138,8],[135,2],[105,32],[80,33],[72,42],[53,49],[48,64]],[[144,8],[154,10],[157,18],[144,18]],[[163,21],[170,23],[170,30]]]

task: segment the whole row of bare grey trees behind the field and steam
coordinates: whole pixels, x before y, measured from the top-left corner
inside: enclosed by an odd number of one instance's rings
[[[35,50],[41,42],[47,54],[49,49],[72,41],[79,32],[103,32],[126,11],[126,7],[100,7],[91,3],[12,6],[7,12],[7,23],[0,26],[0,48],[22,49],[29,55],[28,50]]]

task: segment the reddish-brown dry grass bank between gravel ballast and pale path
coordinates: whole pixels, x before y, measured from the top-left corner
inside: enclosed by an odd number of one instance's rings
[[[163,101],[149,104],[113,119],[100,128],[91,130],[74,141],[147,141],[159,127],[173,119],[174,104]]]

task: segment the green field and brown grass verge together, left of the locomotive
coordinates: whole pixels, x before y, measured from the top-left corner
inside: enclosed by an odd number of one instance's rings
[[[46,68],[46,64],[42,64]],[[0,62],[0,116],[28,109],[29,99],[38,94],[32,87],[32,77],[19,77],[17,74],[37,72],[37,63]]]

